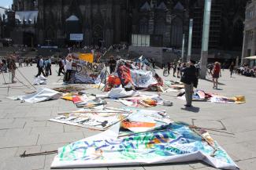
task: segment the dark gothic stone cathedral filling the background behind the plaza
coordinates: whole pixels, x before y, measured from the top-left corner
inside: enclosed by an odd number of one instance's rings
[[[241,51],[246,2],[213,0],[210,49]],[[75,43],[70,34],[83,34],[82,45],[108,46],[130,43],[132,34],[150,34],[152,45],[180,49],[193,18],[192,47],[200,53],[203,5],[203,0],[13,0],[14,30],[33,40],[28,44],[65,46]]]

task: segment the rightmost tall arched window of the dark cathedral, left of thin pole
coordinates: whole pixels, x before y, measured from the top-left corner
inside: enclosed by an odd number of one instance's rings
[[[173,19],[171,30],[171,45],[180,48],[182,46],[183,21],[180,17]]]

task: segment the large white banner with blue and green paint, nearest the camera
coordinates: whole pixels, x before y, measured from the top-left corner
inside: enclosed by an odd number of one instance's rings
[[[187,125],[173,123],[150,132],[118,136],[119,126],[114,125],[106,132],[59,148],[51,168],[204,161],[216,168],[239,169],[208,133],[198,133]]]

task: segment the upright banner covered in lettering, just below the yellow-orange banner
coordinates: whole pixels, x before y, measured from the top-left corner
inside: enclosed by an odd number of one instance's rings
[[[106,67],[103,63],[89,63],[73,60],[70,84],[95,84],[105,78]]]

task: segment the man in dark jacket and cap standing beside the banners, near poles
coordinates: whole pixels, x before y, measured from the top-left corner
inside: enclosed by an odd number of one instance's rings
[[[198,86],[198,73],[195,68],[194,60],[191,60],[189,62],[189,67],[184,69],[184,74],[180,81],[183,82],[185,86],[185,96],[187,102],[185,107],[192,107],[193,88],[197,88]]]

